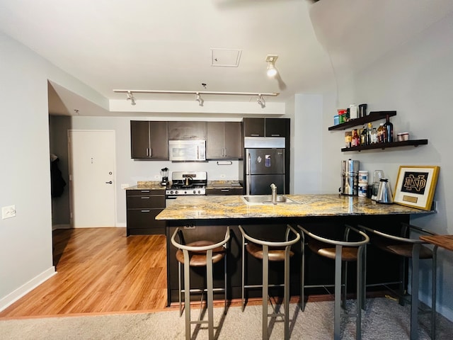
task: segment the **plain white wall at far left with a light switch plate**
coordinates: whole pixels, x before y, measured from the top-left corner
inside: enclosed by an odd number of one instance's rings
[[[0,206],[17,214],[0,220],[1,309],[54,269],[44,63],[1,33],[0,60]]]

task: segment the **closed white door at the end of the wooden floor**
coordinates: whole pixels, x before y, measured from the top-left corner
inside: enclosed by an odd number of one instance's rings
[[[115,131],[68,130],[71,227],[115,227]]]

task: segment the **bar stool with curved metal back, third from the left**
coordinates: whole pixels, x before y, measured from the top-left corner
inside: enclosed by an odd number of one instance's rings
[[[357,233],[360,237],[360,241],[340,241],[336,239],[326,239],[319,235],[309,232],[304,227],[297,225],[302,230],[302,271],[301,271],[301,310],[304,311],[304,269],[305,269],[305,242],[311,251],[320,256],[324,256],[328,259],[335,260],[335,302],[334,302],[334,317],[333,317],[333,339],[341,339],[340,334],[340,317],[341,314],[341,278],[342,278],[342,264],[343,262],[348,263],[351,261],[357,262],[357,302],[356,302],[356,313],[355,314],[343,314],[343,316],[357,317],[356,319],[356,331],[355,338],[361,339],[362,336],[362,259],[363,249],[365,244],[369,242],[369,237],[365,232],[362,232],[350,225],[345,225],[346,232],[345,238],[348,239],[349,231]],[[308,236],[308,238],[305,237]],[[346,282],[348,278],[345,276]],[[345,291],[346,293],[346,291]],[[345,300],[344,300],[345,301]],[[343,304],[343,308],[346,306]]]

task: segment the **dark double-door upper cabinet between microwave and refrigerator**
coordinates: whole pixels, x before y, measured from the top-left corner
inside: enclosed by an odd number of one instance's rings
[[[243,158],[241,122],[207,122],[206,158]]]

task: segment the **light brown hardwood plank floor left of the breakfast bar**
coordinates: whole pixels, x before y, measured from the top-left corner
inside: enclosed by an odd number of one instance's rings
[[[57,273],[0,317],[161,310],[166,237],[126,237],[125,228],[57,229]]]

